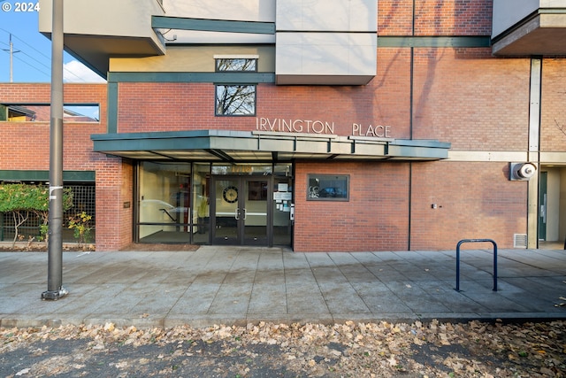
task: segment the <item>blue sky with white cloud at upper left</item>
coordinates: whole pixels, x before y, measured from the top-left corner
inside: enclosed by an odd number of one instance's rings
[[[51,81],[51,41],[38,31],[35,4],[39,6],[37,0],[0,0],[0,82],[10,82],[10,72],[13,82]],[[10,35],[13,50],[11,70]],[[104,82],[103,78],[66,52],[63,64],[65,82]]]

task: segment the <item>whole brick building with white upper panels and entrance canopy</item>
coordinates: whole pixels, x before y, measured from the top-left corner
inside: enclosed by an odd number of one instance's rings
[[[49,35],[50,1],[41,9]],[[565,10],[533,0],[65,3],[65,49],[108,80],[65,86],[65,103],[100,104],[100,122],[65,125],[65,172],[96,181],[96,249],[563,242]],[[3,84],[0,104],[47,102],[48,91]],[[2,122],[14,144],[0,179],[48,167],[48,127],[29,127]]]

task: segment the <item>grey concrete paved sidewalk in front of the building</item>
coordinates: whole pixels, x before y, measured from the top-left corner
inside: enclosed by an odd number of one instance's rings
[[[297,253],[203,246],[176,252],[64,252],[57,301],[46,252],[0,253],[0,326],[566,319],[566,251]]]

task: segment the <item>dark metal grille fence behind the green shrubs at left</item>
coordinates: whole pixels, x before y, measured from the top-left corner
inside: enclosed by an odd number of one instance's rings
[[[87,184],[72,184],[65,185],[65,188],[70,188],[73,191],[73,207],[63,214],[63,243],[76,242],[73,236],[73,230],[68,228],[69,218],[75,216],[80,212],[86,212],[92,216],[90,226],[90,240],[88,243],[94,243],[96,238],[96,192],[95,183]],[[11,242],[14,239],[16,232],[15,220],[11,212],[0,213],[0,242]],[[39,240],[40,226],[42,220],[37,217],[33,212],[29,212],[27,220],[18,228],[18,240],[27,242],[30,238],[34,237],[35,241]]]

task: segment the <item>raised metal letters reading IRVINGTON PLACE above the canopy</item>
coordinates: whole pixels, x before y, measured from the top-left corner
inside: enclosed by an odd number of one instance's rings
[[[282,118],[256,118],[257,131],[276,131],[281,133],[334,134],[334,122],[323,120],[286,120]],[[352,123],[354,136],[373,136],[390,138],[391,126],[363,125]]]

